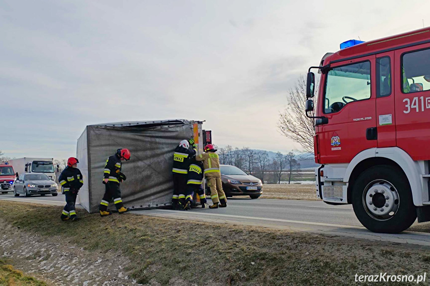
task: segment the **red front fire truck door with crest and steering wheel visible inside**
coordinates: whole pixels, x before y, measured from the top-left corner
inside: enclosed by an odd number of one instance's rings
[[[319,127],[321,163],[349,163],[377,147],[375,56],[330,63],[319,108],[328,123]]]

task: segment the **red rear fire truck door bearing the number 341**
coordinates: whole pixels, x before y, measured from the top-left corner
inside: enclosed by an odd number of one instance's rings
[[[430,44],[395,51],[397,146],[413,160],[430,160]]]

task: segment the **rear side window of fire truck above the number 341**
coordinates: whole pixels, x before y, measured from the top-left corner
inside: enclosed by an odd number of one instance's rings
[[[402,56],[402,87],[405,94],[430,90],[430,49]]]

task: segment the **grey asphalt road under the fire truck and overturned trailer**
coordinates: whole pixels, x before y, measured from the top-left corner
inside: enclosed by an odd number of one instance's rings
[[[0,199],[50,205],[64,205],[65,202],[64,195],[61,193],[57,196],[31,197],[0,194]],[[210,200],[209,203],[211,203]],[[234,197],[228,199],[227,208],[195,208],[189,211],[154,209],[136,210],[132,213],[430,246],[429,233],[411,231],[401,234],[373,233],[365,229],[357,220],[351,205],[335,206],[322,201]]]

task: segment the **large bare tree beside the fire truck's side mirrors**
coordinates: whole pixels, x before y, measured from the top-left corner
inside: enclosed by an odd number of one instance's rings
[[[318,94],[317,87],[318,84],[315,84],[315,94]],[[278,130],[287,138],[300,144],[305,152],[313,153],[314,120],[306,117],[305,100],[306,79],[300,76],[294,87],[288,91],[287,108],[280,113]],[[316,97],[314,100],[314,105],[317,106]]]

